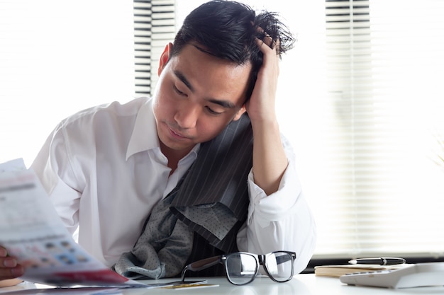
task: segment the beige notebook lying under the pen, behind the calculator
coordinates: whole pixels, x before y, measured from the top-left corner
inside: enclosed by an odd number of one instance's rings
[[[318,277],[340,277],[353,272],[372,272],[374,270],[396,270],[406,267],[402,265],[319,265],[314,267],[314,274]]]

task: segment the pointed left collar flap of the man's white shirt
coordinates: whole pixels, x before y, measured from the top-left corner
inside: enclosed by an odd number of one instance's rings
[[[139,109],[131,139],[126,149],[126,160],[140,151],[160,148],[157,137],[156,120],[152,111],[152,99],[147,100]]]

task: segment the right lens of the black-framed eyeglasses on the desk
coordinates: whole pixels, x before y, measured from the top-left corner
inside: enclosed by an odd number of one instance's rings
[[[275,252],[267,256],[266,267],[268,273],[278,282],[286,282],[292,278],[292,255],[285,252]]]

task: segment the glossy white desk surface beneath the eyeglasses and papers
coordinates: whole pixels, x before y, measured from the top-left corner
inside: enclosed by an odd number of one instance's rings
[[[294,279],[285,283],[273,282],[268,277],[257,277],[255,281],[244,286],[230,284],[226,278],[209,277],[206,278],[209,284],[218,284],[218,287],[206,287],[200,289],[123,289],[117,293],[122,295],[155,295],[155,294],[211,294],[211,295],[374,295],[374,294],[444,294],[444,287],[420,287],[409,289],[387,289],[377,287],[356,287],[343,284],[336,278],[316,277],[314,274],[297,274]],[[155,282],[172,282],[174,279],[147,280],[152,284]],[[42,287],[38,285],[38,287]],[[38,289],[23,289],[19,287],[0,288],[0,294],[55,294],[54,291],[44,291]],[[23,288],[23,287],[22,287]],[[74,291],[74,290],[72,290]],[[119,293],[120,292],[120,293]],[[64,292],[65,293],[65,292]],[[62,294],[57,292],[57,294]],[[67,291],[65,294],[79,294]],[[88,293],[84,293],[88,294]],[[90,293],[91,294],[91,293]]]

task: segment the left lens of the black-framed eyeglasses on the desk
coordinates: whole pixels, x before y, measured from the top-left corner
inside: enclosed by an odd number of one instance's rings
[[[257,261],[252,255],[235,253],[226,258],[226,273],[233,284],[247,284],[255,278]]]

